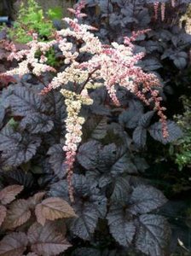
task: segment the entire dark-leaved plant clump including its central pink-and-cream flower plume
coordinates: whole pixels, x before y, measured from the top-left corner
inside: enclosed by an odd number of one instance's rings
[[[150,0],[106,3],[79,1],[48,39],[3,38],[0,255],[171,254],[146,158],[182,137],[163,101],[188,65],[188,38],[165,28],[179,3],[159,0],[164,20]]]

